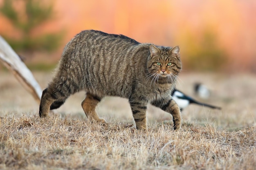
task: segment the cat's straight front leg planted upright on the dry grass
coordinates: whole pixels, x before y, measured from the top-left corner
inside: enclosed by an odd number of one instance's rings
[[[147,101],[141,99],[129,99],[132,108],[132,116],[135,120],[136,128],[138,130],[146,130],[146,109]]]

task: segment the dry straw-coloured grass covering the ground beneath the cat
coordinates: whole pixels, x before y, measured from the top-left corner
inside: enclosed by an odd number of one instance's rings
[[[183,125],[172,130],[171,115],[149,107],[148,130],[133,126],[127,100],[106,98],[97,108],[108,124],[85,118],[78,93],[50,118],[8,73],[0,73],[0,169],[27,170],[254,170],[256,167],[255,75],[183,74],[179,89],[193,82],[213,90],[222,111],[189,106]],[[36,73],[45,87],[51,75]],[[185,88],[186,87],[186,88]],[[189,88],[188,88],[189,87]]]

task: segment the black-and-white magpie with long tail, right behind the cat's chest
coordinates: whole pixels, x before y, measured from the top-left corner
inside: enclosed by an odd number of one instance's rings
[[[209,108],[221,109],[218,106],[213,106],[210,104],[198,102],[195,99],[193,99],[192,97],[189,97],[189,96],[185,95],[184,93],[182,93],[181,91],[178,91],[177,89],[173,90],[172,97],[173,97],[174,101],[177,103],[177,105],[180,107],[180,111],[182,111],[184,108],[189,106],[189,104],[198,104],[198,105],[206,106]]]

